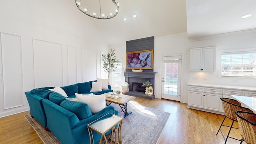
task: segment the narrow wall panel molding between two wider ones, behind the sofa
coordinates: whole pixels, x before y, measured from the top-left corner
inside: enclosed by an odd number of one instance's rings
[[[77,48],[75,46],[68,46],[68,84],[76,84],[77,82]]]

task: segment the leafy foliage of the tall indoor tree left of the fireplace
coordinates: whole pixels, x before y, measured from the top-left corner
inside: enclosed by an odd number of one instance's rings
[[[105,72],[108,73],[108,78],[111,74],[111,72],[114,72],[116,70],[115,62],[118,62],[115,56],[115,49],[110,49],[110,53],[108,54],[102,54],[101,60],[103,61],[103,66]]]

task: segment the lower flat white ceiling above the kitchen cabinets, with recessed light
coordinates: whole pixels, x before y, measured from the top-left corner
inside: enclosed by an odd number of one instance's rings
[[[188,38],[256,28],[256,0],[187,0]],[[240,17],[252,14],[249,18]]]

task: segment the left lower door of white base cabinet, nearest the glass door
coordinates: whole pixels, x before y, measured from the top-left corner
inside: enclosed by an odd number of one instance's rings
[[[204,108],[203,92],[188,91],[188,105],[198,108]]]

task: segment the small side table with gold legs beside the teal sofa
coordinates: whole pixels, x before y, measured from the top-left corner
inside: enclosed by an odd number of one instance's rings
[[[113,140],[113,133],[115,133],[115,144],[117,143],[117,135],[116,135],[116,128],[115,126],[118,124],[118,142],[119,144],[122,144],[122,138],[121,138],[121,128],[122,128],[122,122],[124,118],[121,118],[120,116],[117,116],[115,114],[108,113],[97,120],[91,122],[87,125],[89,137],[90,137],[90,144],[94,144],[94,138],[92,134],[92,130],[101,134],[100,137],[100,144],[102,143],[102,138],[104,137],[106,144],[108,144],[108,140],[105,136],[106,132],[111,130],[111,144]]]

